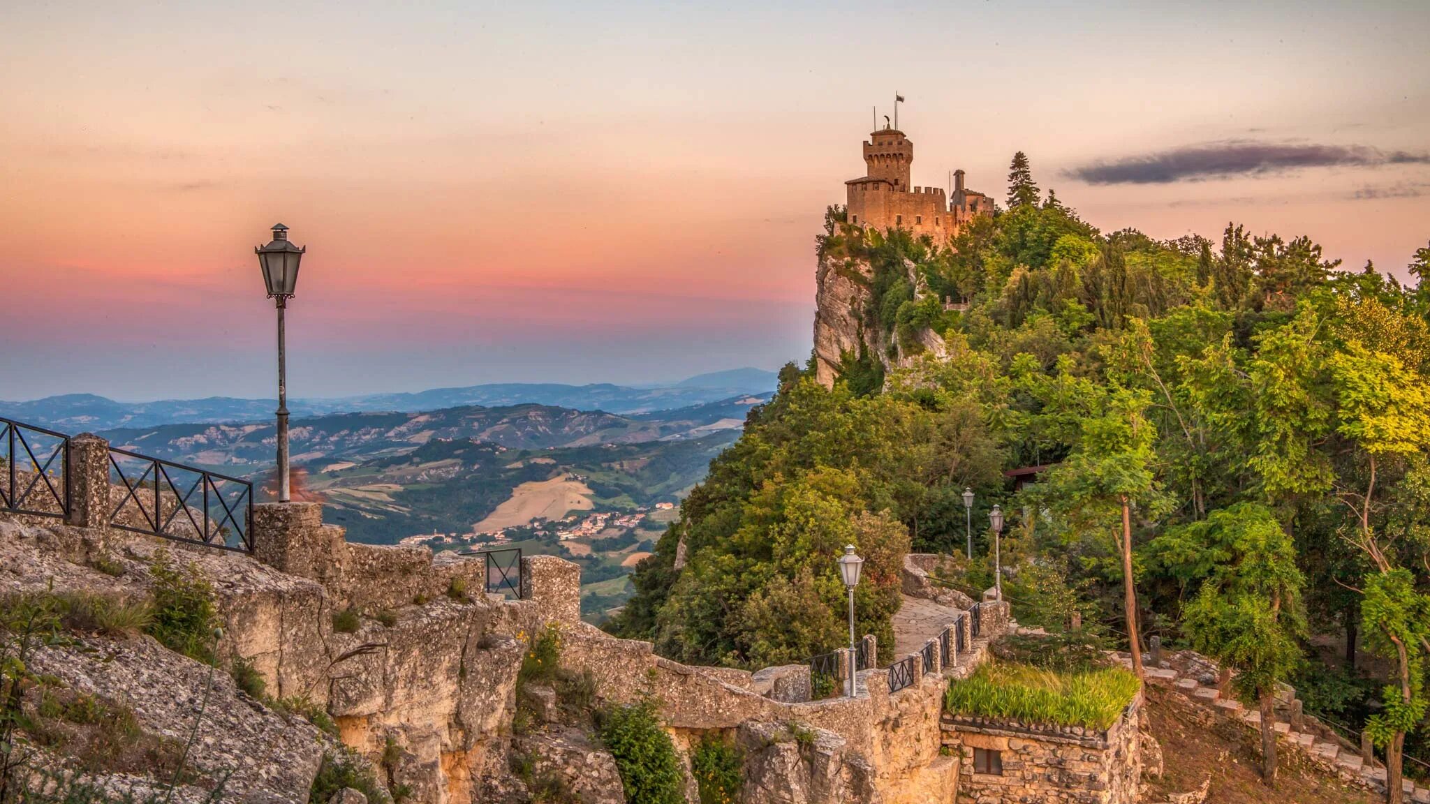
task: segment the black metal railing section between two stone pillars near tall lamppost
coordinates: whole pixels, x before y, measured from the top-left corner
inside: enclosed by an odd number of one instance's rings
[[[112,528],[253,552],[249,481],[114,446],[109,448],[109,475],[122,495],[109,514]]]

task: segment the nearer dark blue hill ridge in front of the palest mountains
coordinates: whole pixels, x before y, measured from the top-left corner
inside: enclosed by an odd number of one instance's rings
[[[674,411],[618,415],[552,405],[463,405],[436,411],[299,416],[289,425],[295,464],[315,472],[405,455],[429,442],[480,441],[506,449],[555,449],[698,439],[738,431],[769,393],[745,393]],[[259,422],[186,422],[102,429],[114,446],[246,475],[273,464],[275,429]]]

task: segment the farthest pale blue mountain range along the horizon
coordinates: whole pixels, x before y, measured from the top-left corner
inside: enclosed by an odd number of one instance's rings
[[[370,393],[327,399],[290,399],[295,416],[330,413],[439,411],[468,405],[549,405],[608,413],[648,413],[719,402],[732,396],[769,393],[778,375],[764,369],[734,369],[696,375],[675,385],[635,388],[611,383],[489,383],[433,388],[416,393]],[[116,402],[93,393],[46,396],[29,402],[0,402],[0,416],[64,432],[116,428],[157,428],[177,423],[263,422],[273,418],[273,399],[162,399]]]

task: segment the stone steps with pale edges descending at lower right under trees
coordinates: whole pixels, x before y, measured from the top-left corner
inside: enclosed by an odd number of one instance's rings
[[[1127,654],[1114,654],[1118,662],[1131,668],[1133,660]],[[1165,664],[1165,662],[1163,662]],[[1250,711],[1234,698],[1224,698],[1214,685],[1203,684],[1193,674],[1181,674],[1171,667],[1144,667],[1148,684],[1168,687],[1181,692],[1188,700],[1234,721],[1240,721],[1248,728],[1261,728],[1261,712]],[[1301,751],[1326,770],[1336,773],[1340,778],[1353,784],[1360,784],[1377,793],[1386,790],[1386,767],[1379,760],[1367,763],[1360,751],[1347,747],[1334,732],[1311,717],[1304,715],[1303,730],[1293,731],[1290,720],[1283,720],[1277,712],[1277,720],[1271,725],[1283,747]],[[1416,804],[1430,804],[1430,787],[1417,785],[1410,780],[1403,780],[1406,800]]]

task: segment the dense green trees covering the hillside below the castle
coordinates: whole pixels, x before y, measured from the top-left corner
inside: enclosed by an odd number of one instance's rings
[[[831,210],[819,259],[868,289],[857,312],[889,353],[849,355],[832,391],[786,366],[612,628],[688,661],[801,661],[847,639],[834,559],[854,544],[869,559],[859,627],[885,637],[902,554],[961,554],[971,486],[975,559],[951,582],[991,584],[987,509],[1001,504],[1024,622],[1061,629],[1080,612],[1124,644],[1201,645],[1253,697],[1298,680],[1313,710],[1369,724],[1391,760],[1416,750],[1427,292],[1238,225],[1220,245],[1101,233],[1041,202],[1021,153],[1008,197],[942,249]],[[1409,266],[1427,270],[1430,246]],[[927,330],[947,358],[922,352]],[[1028,466],[1047,468],[1014,491],[1004,472]],[[1344,657],[1311,649],[1314,632],[1346,638]],[[1357,647],[1380,658],[1363,665]],[[1341,691],[1321,695],[1326,678]]]

